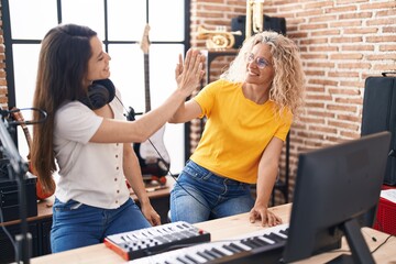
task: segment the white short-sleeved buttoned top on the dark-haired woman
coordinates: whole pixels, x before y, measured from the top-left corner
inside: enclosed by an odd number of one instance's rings
[[[125,119],[118,98],[109,105],[114,119]],[[59,167],[55,196],[63,202],[74,199],[113,209],[130,197],[122,167],[123,144],[89,142],[102,120],[79,101],[67,102],[55,113],[54,151]]]

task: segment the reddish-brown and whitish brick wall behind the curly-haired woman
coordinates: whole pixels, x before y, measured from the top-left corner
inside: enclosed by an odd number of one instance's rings
[[[245,4],[193,0],[191,45],[205,46],[196,38],[197,25],[230,31],[231,18],[245,14]],[[360,138],[365,78],[396,72],[396,1],[265,0],[264,13],[286,18],[287,35],[300,47],[307,75],[305,112],[290,132],[292,197],[297,154]],[[211,79],[227,62],[212,63]]]

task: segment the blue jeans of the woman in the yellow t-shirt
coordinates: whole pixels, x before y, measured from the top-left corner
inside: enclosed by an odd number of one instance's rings
[[[170,220],[197,223],[249,212],[253,205],[249,184],[217,176],[188,161],[170,191]]]

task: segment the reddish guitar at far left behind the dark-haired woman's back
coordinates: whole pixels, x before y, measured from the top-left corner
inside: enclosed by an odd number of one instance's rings
[[[21,111],[18,109],[18,108],[12,108],[11,111],[11,117],[19,122],[19,124],[21,125],[22,130],[23,130],[23,133],[24,133],[24,136],[26,139],[26,142],[28,142],[28,146],[29,146],[29,154],[26,156],[28,158],[28,163],[29,163],[29,172],[35,176],[37,176],[37,172],[34,169],[32,163],[30,162],[30,158],[31,158],[31,153],[30,153],[30,150],[31,150],[31,146],[32,146],[32,136],[29,132],[29,129],[28,129],[28,125],[25,124],[24,122],[24,119],[23,119],[23,116],[21,113]],[[53,179],[54,182],[54,179]],[[54,186],[55,186],[55,182],[54,182]],[[46,193],[42,185],[41,185],[41,182],[38,180],[37,178],[37,182],[36,182],[36,196],[37,196],[37,199],[38,200],[44,200],[46,198],[48,198],[50,196],[52,196],[55,191],[53,193]]]

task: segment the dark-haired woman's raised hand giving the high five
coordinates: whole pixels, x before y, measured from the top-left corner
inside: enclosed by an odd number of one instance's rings
[[[176,65],[175,77],[177,88],[184,92],[185,97],[191,95],[204,77],[204,59],[205,56],[202,56],[200,52],[196,50],[187,51],[184,63],[182,54],[179,55],[179,63]]]

